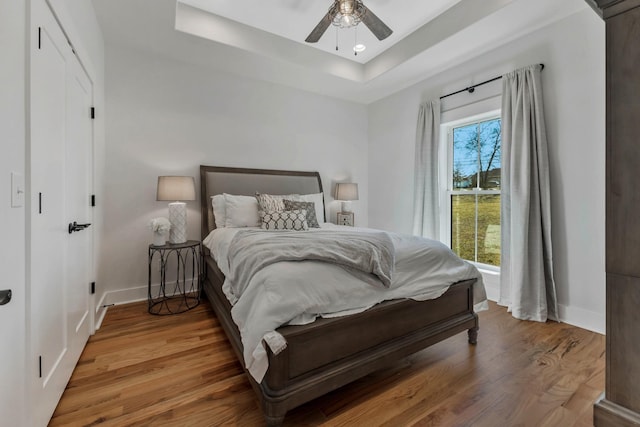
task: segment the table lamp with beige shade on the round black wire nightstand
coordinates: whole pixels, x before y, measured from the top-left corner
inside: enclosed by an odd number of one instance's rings
[[[196,185],[192,176],[159,176],[156,200],[169,203],[169,243],[187,241],[187,204],[185,200],[196,199]]]

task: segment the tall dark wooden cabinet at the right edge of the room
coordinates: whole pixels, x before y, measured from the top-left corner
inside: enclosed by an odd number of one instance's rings
[[[587,0],[607,34],[607,370],[594,425],[640,426],[640,0]]]

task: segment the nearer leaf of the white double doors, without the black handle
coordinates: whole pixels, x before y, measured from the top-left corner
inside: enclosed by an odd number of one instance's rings
[[[34,12],[38,2],[34,2]],[[32,39],[31,62],[31,251],[29,406],[32,425],[46,425],[66,379],[57,368],[67,353],[65,319],[64,164],[69,46],[42,14]]]

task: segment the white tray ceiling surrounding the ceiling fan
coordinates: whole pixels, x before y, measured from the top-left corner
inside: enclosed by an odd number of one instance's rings
[[[373,41],[354,58],[346,42],[336,55],[333,28],[318,46],[304,42],[331,0],[92,1],[107,46],[365,104],[588,8],[584,0],[365,0],[394,34],[380,42],[360,24],[359,37]]]

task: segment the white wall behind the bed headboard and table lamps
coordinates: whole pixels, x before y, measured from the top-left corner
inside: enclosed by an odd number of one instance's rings
[[[149,219],[159,175],[199,165],[317,170],[327,202],[336,181],[360,184],[356,223],[367,219],[366,107],[191,64],[107,47],[105,303],[146,297]],[[199,191],[198,191],[199,197]],[[199,201],[188,203],[200,237]],[[339,204],[328,203],[335,222]]]

